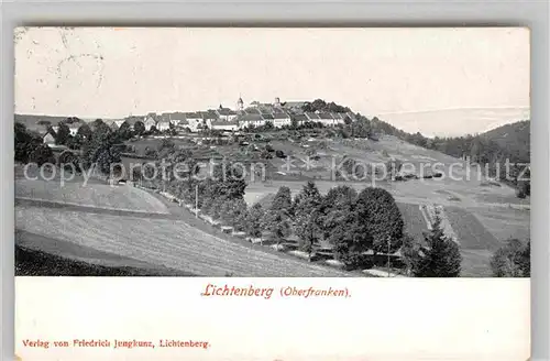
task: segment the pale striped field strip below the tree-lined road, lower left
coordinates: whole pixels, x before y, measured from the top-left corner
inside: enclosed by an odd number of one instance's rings
[[[165,265],[197,275],[345,276],[345,272],[308,264],[232,243],[184,221],[87,214],[18,206],[18,229],[75,242],[105,252]]]

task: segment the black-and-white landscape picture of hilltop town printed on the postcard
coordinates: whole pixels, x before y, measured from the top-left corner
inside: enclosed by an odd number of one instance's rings
[[[526,28],[31,26],[14,53],[16,276],[530,277]]]

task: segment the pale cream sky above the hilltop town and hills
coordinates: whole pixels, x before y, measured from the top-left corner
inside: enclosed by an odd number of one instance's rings
[[[18,28],[15,112],[122,118],[317,98],[428,135],[529,117],[529,31]]]

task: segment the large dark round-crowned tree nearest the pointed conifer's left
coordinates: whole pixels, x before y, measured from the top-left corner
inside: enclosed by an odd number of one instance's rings
[[[373,237],[375,253],[395,252],[399,249],[403,228],[402,212],[394,197],[383,188],[363,189],[356,201],[358,218]]]

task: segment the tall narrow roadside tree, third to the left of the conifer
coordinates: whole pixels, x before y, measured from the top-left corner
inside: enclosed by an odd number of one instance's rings
[[[293,212],[296,215],[296,236],[304,242],[302,250],[309,258],[315,244],[320,240],[321,228],[321,195],[314,182],[308,182],[295,198]]]

